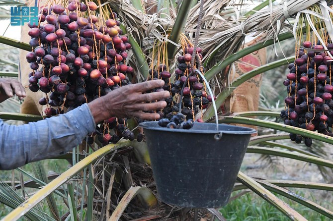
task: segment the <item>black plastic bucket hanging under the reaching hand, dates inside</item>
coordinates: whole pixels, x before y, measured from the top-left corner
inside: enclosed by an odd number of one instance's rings
[[[198,122],[189,130],[161,127],[157,121],[139,126],[163,202],[188,208],[227,204],[254,129],[219,124],[216,130],[217,124]]]

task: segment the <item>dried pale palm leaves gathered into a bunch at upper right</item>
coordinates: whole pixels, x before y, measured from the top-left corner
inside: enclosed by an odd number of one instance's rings
[[[282,30],[292,31],[292,26],[285,22],[286,18],[319,2],[319,0],[284,1],[285,3],[261,9],[247,19],[244,17],[235,19],[235,16],[221,16],[220,10],[226,8],[226,1],[220,3],[221,8],[214,8],[214,10],[211,8],[211,5],[214,5],[211,1],[205,1],[206,16],[203,19],[198,45],[206,55],[204,59],[212,54],[216,55],[208,66],[214,65],[217,60],[224,59],[238,51],[248,34],[264,34],[266,39],[276,39]],[[332,1],[327,3],[330,5]],[[196,19],[193,19],[197,13],[197,6],[190,11],[189,18],[192,19],[187,22],[186,26],[186,31],[189,32],[190,36],[194,33],[197,25]]]

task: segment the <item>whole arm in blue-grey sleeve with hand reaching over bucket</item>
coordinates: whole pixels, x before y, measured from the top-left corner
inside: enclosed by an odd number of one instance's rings
[[[167,98],[169,92],[151,95],[142,92],[163,85],[163,80],[156,80],[123,86],[65,114],[20,126],[7,125],[0,120],[0,169],[12,169],[62,155],[80,144],[95,129],[95,122],[111,116],[158,119],[159,114],[141,110],[166,107],[165,101],[145,102]]]

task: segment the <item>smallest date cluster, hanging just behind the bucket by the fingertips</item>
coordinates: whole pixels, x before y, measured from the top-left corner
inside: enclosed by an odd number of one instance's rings
[[[187,47],[183,50],[184,54],[178,56],[178,66],[175,69],[174,83],[170,83],[171,73],[167,71],[167,66],[165,64],[160,64],[157,68],[158,70],[150,70],[150,75],[152,75],[153,79],[159,78],[166,82],[165,86],[158,90],[167,90],[170,92],[170,97],[166,99],[167,107],[159,111],[161,118],[167,119],[164,122],[170,122],[172,117],[179,111],[179,103],[175,102],[175,100],[177,100],[178,96],[180,96],[181,88],[184,84],[183,98],[181,100],[181,113],[185,116],[186,120],[194,120],[195,115],[200,110],[206,109],[209,102],[212,102],[211,96],[207,95],[205,91],[204,81],[198,74],[193,73],[187,79],[187,76],[192,71],[191,60],[193,50],[193,47],[187,45]],[[202,55],[200,54],[201,49],[197,48],[196,52],[194,63],[196,67],[200,67],[200,71],[203,73],[204,68],[200,65],[202,59]],[[197,121],[202,122],[200,118],[197,119]],[[163,123],[163,125],[164,124],[165,123]],[[193,123],[190,124],[193,125]]]

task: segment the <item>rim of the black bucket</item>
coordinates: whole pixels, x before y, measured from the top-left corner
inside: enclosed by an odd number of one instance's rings
[[[206,123],[203,122],[204,124],[211,124],[216,126],[215,123]],[[201,122],[194,122],[194,124],[202,124]],[[250,127],[244,127],[244,126],[236,126],[236,125],[229,125],[229,124],[224,124],[224,123],[219,123],[219,125],[223,126],[228,126],[230,128],[241,128],[244,129],[242,131],[236,131],[236,130],[197,130],[197,129],[170,129],[167,127],[161,127],[158,125],[158,121],[146,121],[146,122],[141,122],[139,123],[140,127],[143,127],[144,129],[148,130],[158,130],[158,131],[167,131],[167,132],[177,132],[177,133],[201,133],[201,134],[216,134],[216,133],[225,133],[225,134],[253,134],[256,133],[257,131],[253,128]]]

